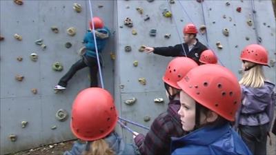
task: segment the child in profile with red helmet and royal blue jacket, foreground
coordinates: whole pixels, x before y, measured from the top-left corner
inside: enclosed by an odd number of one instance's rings
[[[181,88],[178,114],[188,134],[172,138],[173,155],[251,154],[230,125],[241,100],[239,82],[230,70],[200,65],[177,85]]]

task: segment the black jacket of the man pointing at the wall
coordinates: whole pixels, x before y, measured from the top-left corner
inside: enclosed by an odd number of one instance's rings
[[[182,45],[185,49],[187,57],[190,59],[193,59],[199,64],[199,57],[201,55],[201,52],[203,52],[204,50],[207,50],[206,46],[200,43],[197,39],[197,43],[195,44],[195,47],[189,52],[188,45],[186,43],[182,43]],[[182,45],[177,44],[175,46],[154,48],[155,50],[153,51],[153,53],[159,54],[162,56],[174,56],[174,57],[185,56],[185,52],[182,48]]]

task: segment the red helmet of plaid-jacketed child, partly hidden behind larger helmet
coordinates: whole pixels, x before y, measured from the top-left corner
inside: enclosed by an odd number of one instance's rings
[[[197,63],[193,59],[181,56],[175,59],[172,59],[168,63],[166,72],[163,76],[163,81],[180,90],[180,87],[177,85],[177,82],[180,81],[192,68],[197,67]]]

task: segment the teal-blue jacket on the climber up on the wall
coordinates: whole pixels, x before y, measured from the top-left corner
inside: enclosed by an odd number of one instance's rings
[[[103,34],[108,34],[108,37],[110,36],[110,31],[106,27],[101,29],[96,29],[96,31]],[[106,45],[107,39],[108,38],[101,39],[100,37],[96,36],[97,48],[99,53],[101,53],[104,46]],[[86,43],[86,55],[96,58],[97,56],[96,56],[94,37],[93,37],[93,33],[90,30],[88,30],[88,32],[86,33],[83,39],[83,43]]]

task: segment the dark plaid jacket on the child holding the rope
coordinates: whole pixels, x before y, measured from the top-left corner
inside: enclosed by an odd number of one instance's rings
[[[179,108],[179,101],[170,101],[167,112],[163,112],[155,118],[148,134],[146,136],[138,134],[135,137],[135,145],[141,155],[170,154],[170,137],[184,135],[180,116],[177,114]]]

